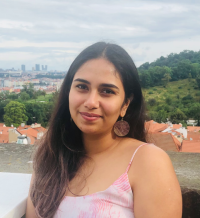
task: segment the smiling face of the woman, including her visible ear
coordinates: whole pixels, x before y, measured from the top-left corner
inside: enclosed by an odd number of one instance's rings
[[[85,134],[112,131],[124,116],[125,92],[119,73],[106,59],[92,59],[76,72],[69,93],[69,110],[74,123]]]

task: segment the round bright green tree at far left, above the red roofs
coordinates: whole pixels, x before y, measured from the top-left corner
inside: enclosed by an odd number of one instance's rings
[[[25,105],[17,101],[10,101],[4,108],[4,121],[6,126],[18,127],[22,122],[27,121],[28,117],[25,115]]]

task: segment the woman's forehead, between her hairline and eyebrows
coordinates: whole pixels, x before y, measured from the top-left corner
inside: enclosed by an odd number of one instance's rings
[[[98,83],[115,83],[122,86],[122,81],[115,66],[106,59],[92,59],[85,62],[76,72],[74,80],[77,78]]]

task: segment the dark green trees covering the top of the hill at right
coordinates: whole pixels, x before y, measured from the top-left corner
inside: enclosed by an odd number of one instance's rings
[[[152,63],[145,63],[138,68],[141,86],[143,88],[158,85],[166,86],[169,81],[196,79],[200,88],[200,51],[183,51],[180,54],[170,54],[160,57]]]

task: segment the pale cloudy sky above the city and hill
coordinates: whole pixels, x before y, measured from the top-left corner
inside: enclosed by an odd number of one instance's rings
[[[137,67],[200,50],[199,0],[2,0],[0,68],[67,70],[87,46],[122,46]]]

